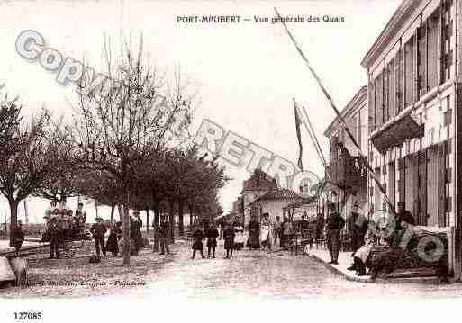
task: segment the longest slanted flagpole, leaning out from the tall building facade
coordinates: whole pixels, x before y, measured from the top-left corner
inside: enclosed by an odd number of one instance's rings
[[[359,155],[361,157],[365,157],[362,152],[361,152],[361,148],[359,147],[358,145],[358,142],[356,141],[356,139],[353,137],[353,135],[351,134],[351,132],[349,132],[349,128],[347,126],[347,123],[343,120],[343,117],[340,115],[340,112],[339,112],[339,109],[337,109],[337,106],[335,105],[335,103],[332,101],[331,99],[331,95],[327,92],[326,88],[324,87],[324,85],[322,85],[322,82],[321,82],[321,79],[319,78],[319,76],[316,74],[316,72],[314,71],[313,67],[310,65],[309,61],[308,61],[308,58],[306,58],[306,56],[304,56],[303,54],[303,51],[302,49],[300,49],[300,46],[298,45],[298,43],[296,42],[296,40],[294,39],[294,36],[292,36],[292,33],[289,31],[289,29],[287,28],[287,25],[285,24],[285,21],[281,18],[281,15],[279,14],[279,12],[277,11],[276,7],[274,8],[275,9],[275,12],[277,14],[277,18],[279,19],[279,21],[283,24],[284,26],[284,29],[285,31],[287,32],[287,35],[289,36],[290,40],[292,40],[292,42],[294,43],[294,46],[295,48],[297,49],[298,53],[300,54],[300,56],[303,58],[303,61],[306,65],[306,67],[308,67],[308,69],[310,70],[310,72],[312,73],[314,79],[316,80],[316,82],[318,83],[318,85],[320,86],[321,90],[322,90],[322,93],[326,96],[327,100],[329,101],[329,103],[331,103],[331,107],[333,109],[333,111],[337,114],[337,117],[339,118],[339,120],[341,121],[341,123],[343,123],[344,125],[344,130],[347,132],[347,134],[349,135],[349,139],[351,140],[351,142],[358,148],[358,152],[359,152]],[[394,204],[390,201],[390,199],[388,198],[388,196],[386,195],[385,193],[385,190],[384,190],[384,187],[382,186],[382,184],[380,184],[380,182],[376,179],[376,175],[374,174],[374,169],[372,169],[372,167],[369,165],[369,163],[367,162],[367,157],[365,157],[365,165],[367,166],[367,170],[370,172],[370,175],[372,177],[372,179],[374,180],[374,182],[376,183],[376,186],[378,187],[380,193],[382,193],[385,197],[385,201],[388,203],[388,205],[390,206],[391,210],[394,212]]]

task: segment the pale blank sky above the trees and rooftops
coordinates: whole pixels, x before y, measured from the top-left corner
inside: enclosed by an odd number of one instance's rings
[[[42,106],[55,116],[70,114],[77,100],[75,86],[59,85],[57,73],[37,61],[27,61],[15,51],[22,31],[39,31],[47,47],[63,57],[81,59],[103,71],[104,37],[118,49],[121,34],[133,44],[142,37],[152,65],[171,76],[179,67],[191,80],[198,96],[193,132],[204,119],[222,125],[274,154],[296,163],[298,144],[294,130],[294,103],[305,106],[325,155],[323,132],[334,118],[331,106],[304,66],[281,23],[271,23],[277,7],[283,16],[342,16],[344,22],[288,22],[312,66],[334,102],[343,108],[362,85],[367,71],[361,59],[400,4],[397,0],[347,1],[1,1],[0,84],[12,96],[19,95],[24,114]],[[240,15],[239,23],[177,22],[178,16]],[[269,22],[254,22],[255,16]],[[244,21],[248,18],[249,21]],[[306,132],[303,166],[323,175],[322,164]],[[231,210],[249,177],[245,167],[228,166],[233,178],[220,198]],[[30,221],[41,221],[49,202],[27,201]],[[77,202],[69,206],[75,209]],[[93,220],[95,205],[86,205]],[[23,206],[19,211],[23,217]],[[8,216],[0,199],[0,222]],[[99,214],[109,217],[108,208]]]

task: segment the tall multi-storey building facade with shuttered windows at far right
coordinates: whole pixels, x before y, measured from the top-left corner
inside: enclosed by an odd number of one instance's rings
[[[396,207],[445,230],[460,274],[462,1],[405,0],[367,52],[368,160]],[[387,209],[369,181],[373,209]]]

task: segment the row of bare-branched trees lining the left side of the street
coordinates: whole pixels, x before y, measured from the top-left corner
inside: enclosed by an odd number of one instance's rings
[[[173,241],[176,214],[184,234],[186,210],[190,216],[221,212],[217,193],[228,178],[216,157],[200,156],[191,144],[190,83],[179,72],[170,83],[145,64],[142,41],[136,51],[124,45],[120,52],[113,60],[104,44],[106,82],[94,86],[93,75],[82,77],[69,120],[46,110],[29,120],[17,98],[3,96],[0,193],[12,224],[19,202],[30,195],[56,201],[83,195],[111,206],[112,218],[118,207],[128,265],[130,209],[153,211],[155,228],[159,214],[168,213]]]

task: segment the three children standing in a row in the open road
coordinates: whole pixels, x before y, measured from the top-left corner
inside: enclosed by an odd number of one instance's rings
[[[212,254],[212,257],[215,258],[217,238],[219,236],[220,233],[213,223],[209,224],[204,231],[199,225],[196,225],[191,236],[193,238],[193,256],[191,256],[191,259],[195,258],[196,251],[199,251],[204,259],[203,241],[205,238],[207,239],[207,257],[210,258]],[[222,238],[224,239],[224,249],[226,250],[225,258],[231,259],[232,251],[234,250],[235,232],[234,229],[231,228],[230,223],[224,225],[224,229],[222,229]]]

